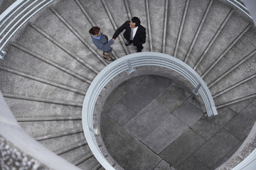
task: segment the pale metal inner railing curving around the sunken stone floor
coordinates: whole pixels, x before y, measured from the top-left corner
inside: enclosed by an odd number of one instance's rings
[[[109,162],[107,162],[107,159],[105,159],[97,145],[95,138],[95,135],[97,135],[97,130],[94,129],[92,120],[93,113],[95,111],[95,103],[102,89],[104,89],[107,83],[110,82],[114,77],[122,72],[134,72],[134,68],[144,66],[164,67],[181,74],[181,76],[186,78],[195,87],[193,93],[198,93],[203,99],[208,116],[218,114],[213,97],[211,96],[210,91],[203,79],[196,73],[195,70],[188,66],[188,64],[178,60],[175,57],[157,52],[139,52],[132,55],[127,55],[112,62],[111,64],[107,65],[105,69],[102,69],[99,74],[97,74],[97,77],[95,77],[87,90],[85,100],[82,103],[82,128],[85,133],[87,144],[89,145],[96,159],[107,170],[114,170],[114,168],[109,164]]]

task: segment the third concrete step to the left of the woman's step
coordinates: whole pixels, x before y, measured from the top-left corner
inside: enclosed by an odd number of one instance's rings
[[[47,81],[52,81],[63,86],[70,86],[71,88],[79,89],[80,91],[86,91],[90,86],[92,77],[95,77],[95,74],[88,74],[90,77],[75,74],[72,70],[60,67],[54,62],[43,62],[43,57],[30,51],[24,52],[23,50],[20,50],[23,48],[18,49],[17,47],[11,47],[11,52],[8,54],[10,57],[7,57],[5,61],[1,61],[1,67],[23,72],[24,74],[40,79],[46,79]],[[70,81],[73,83],[70,84]]]

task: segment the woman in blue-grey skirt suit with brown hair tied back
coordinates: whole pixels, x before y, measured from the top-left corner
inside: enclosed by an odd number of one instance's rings
[[[110,57],[110,53],[112,52],[112,47],[110,47],[110,45],[114,43],[114,40],[107,42],[107,36],[103,35],[100,28],[97,26],[90,28],[89,33],[91,34],[92,42],[96,45],[97,49],[103,50],[104,58],[110,62],[114,61],[114,59]]]

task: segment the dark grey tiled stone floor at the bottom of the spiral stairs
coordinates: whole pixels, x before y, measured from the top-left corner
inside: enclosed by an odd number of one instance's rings
[[[255,98],[206,118],[188,91],[171,79],[134,77],[112,91],[101,117],[108,152],[124,169],[215,169],[254,125]]]

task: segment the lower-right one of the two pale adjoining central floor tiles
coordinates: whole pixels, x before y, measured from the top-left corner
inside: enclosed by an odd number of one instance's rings
[[[171,142],[176,140],[188,127],[169,115],[156,129],[154,129],[143,142],[154,152],[159,154],[164,148],[169,146]]]

